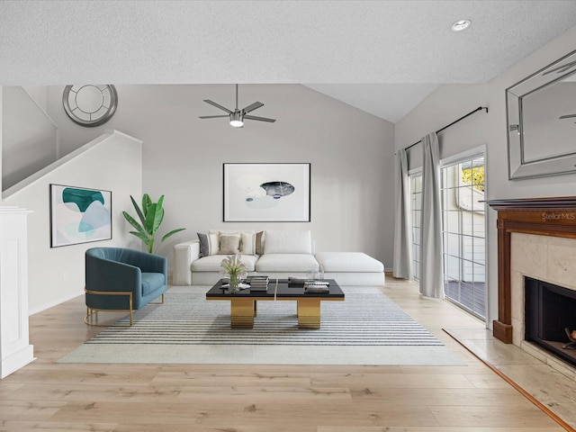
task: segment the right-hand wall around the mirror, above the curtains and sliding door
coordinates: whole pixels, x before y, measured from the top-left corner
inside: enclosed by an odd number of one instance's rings
[[[537,50],[507,72],[484,85],[443,85],[396,123],[395,147],[405,148],[433,130],[439,130],[478,106],[478,112],[440,134],[441,157],[486,145],[486,198],[524,198],[576,194],[576,175],[559,175],[523,181],[508,179],[508,144],[505,90],[576,49],[576,27]],[[554,146],[553,142],[543,143]],[[421,147],[410,151],[411,166],[421,164]],[[498,249],[496,211],[488,216],[489,323],[498,317]]]

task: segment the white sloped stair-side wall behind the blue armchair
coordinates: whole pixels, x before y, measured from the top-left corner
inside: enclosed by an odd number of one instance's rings
[[[12,193],[5,205],[33,211],[28,217],[28,290],[30,312],[47,309],[84,293],[84,252],[89,247],[139,247],[127,234],[128,224],[121,209],[130,204],[130,193],[141,193],[141,142],[120,133],[86,145],[56,162],[48,174]],[[101,141],[101,142],[100,142]],[[85,151],[83,151],[85,150]],[[112,191],[112,240],[50,247],[49,184]],[[11,191],[6,191],[10,193]]]

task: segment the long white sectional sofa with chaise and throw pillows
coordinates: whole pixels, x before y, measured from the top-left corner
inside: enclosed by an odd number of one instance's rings
[[[314,254],[310,230],[215,230],[174,247],[175,285],[211,285],[223,276],[220,262],[239,253],[248,275],[305,277],[322,266],[340,285],[383,285],[383,264],[362,252]]]

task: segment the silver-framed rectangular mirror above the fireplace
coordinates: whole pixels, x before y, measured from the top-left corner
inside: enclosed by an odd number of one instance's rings
[[[576,173],[576,51],[506,90],[509,179]]]

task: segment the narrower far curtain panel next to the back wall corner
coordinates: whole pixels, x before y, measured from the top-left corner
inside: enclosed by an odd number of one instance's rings
[[[396,213],[394,219],[394,266],[392,275],[412,279],[412,213],[410,211],[410,177],[406,149],[396,153]]]

